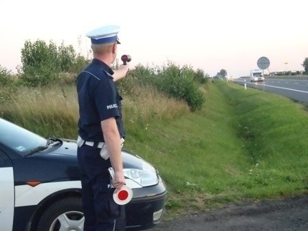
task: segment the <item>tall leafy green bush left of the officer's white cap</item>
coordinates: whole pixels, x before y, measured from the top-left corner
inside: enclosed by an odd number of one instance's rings
[[[47,44],[37,40],[34,43],[25,42],[21,50],[21,62],[21,83],[36,87],[54,82],[61,73],[80,72],[89,60],[76,54],[72,45],[61,43],[57,46],[53,41]]]

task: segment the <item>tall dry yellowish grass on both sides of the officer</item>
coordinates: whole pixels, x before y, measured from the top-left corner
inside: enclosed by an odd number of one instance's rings
[[[189,113],[184,101],[166,98],[155,88],[135,88],[124,98],[124,124],[131,132],[153,120],[170,120]],[[75,139],[78,133],[78,101],[74,85],[19,87],[15,96],[1,104],[1,117],[43,136]]]

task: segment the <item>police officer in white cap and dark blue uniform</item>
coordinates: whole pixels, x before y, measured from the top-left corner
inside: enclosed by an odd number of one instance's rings
[[[84,231],[125,230],[124,208],[112,197],[113,191],[118,192],[125,184],[121,157],[121,140],[125,135],[122,98],[114,82],[126,76],[129,65],[120,65],[116,72],[110,67],[120,44],[118,32],[118,26],[108,25],[87,34],[94,58],[77,78],[80,115],[77,155],[83,188]],[[104,158],[100,155],[103,148],[109,154]],[[111,166],[115,172],[113,179],[108,172]]]

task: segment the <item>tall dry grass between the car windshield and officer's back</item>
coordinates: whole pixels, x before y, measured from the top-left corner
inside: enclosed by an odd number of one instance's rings
[[[78,106],[74,87],[19,87],[1,104],[1,116],[45,137],[76,138]]]

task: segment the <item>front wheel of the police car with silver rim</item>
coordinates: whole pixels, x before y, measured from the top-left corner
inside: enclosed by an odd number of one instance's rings
[[[81,198],[69,197],[53,203],[41,216],[37,230],[83,230],[83,206]]]

